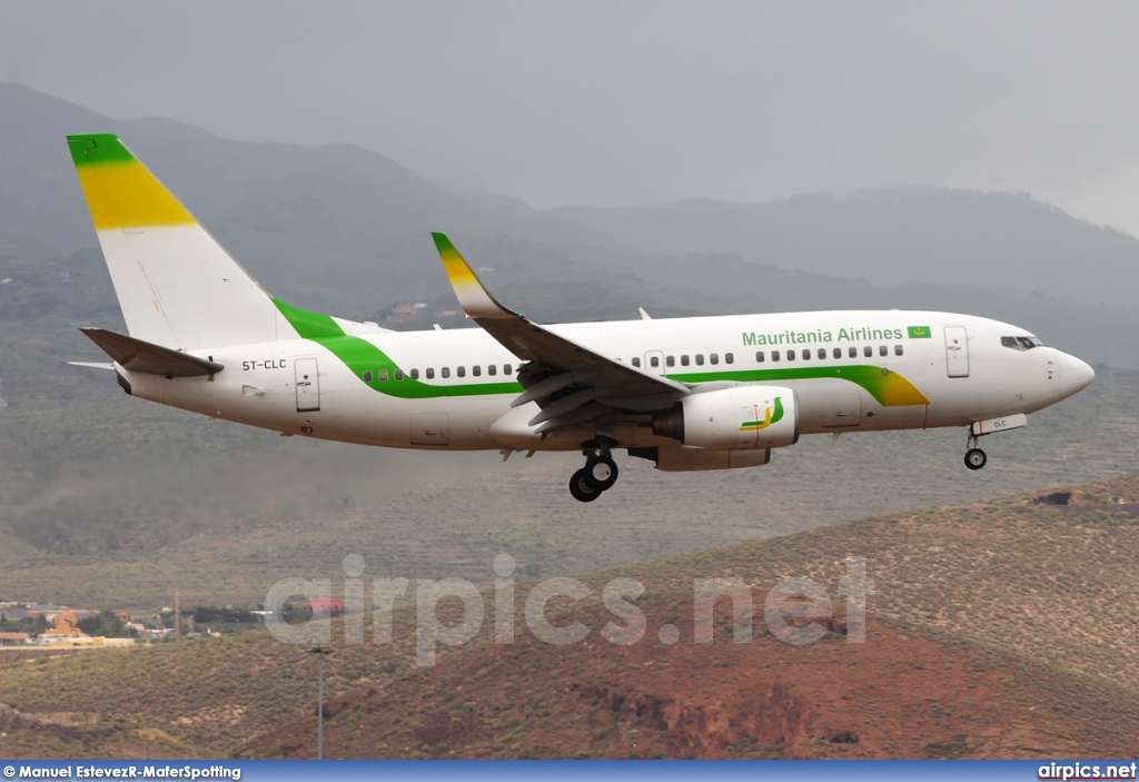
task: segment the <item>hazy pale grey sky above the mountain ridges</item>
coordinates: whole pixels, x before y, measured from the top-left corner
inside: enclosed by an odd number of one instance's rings
[[[534,206],[1025,190],[1139,236],[1139,3],[0,0],[0,79]]]

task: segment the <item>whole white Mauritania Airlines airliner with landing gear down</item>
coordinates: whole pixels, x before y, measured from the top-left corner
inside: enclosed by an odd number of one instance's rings
[[[1024,329],[940,312],[800,312],[540,326],[501,306],[441,233],[481,329],[396,332],[268,295],[126,149],[67,138],[130,336],[87,328],[128,394],[285,435],[424,450],[612,452],[661,470],[767,464],[801,435],[969,427],[982,436],[1091,382]],[[695,273],[695,270],[694,270]]]

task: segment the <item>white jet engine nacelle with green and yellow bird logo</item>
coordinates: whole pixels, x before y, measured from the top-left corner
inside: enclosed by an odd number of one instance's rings
[[[690,394],[653,417],[653,434],[712,451],[781,448],[798,442],[798,397],[786,386]]]

